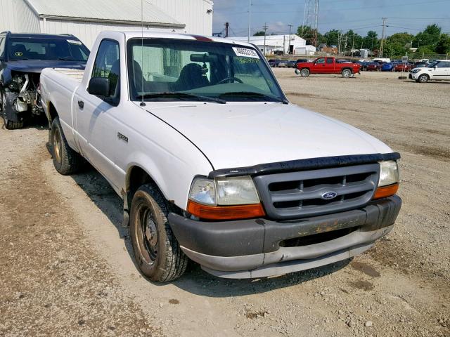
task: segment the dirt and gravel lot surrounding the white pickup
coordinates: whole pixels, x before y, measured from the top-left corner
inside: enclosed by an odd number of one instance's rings
[[[275,72],[293,103],[401,152],[387,238],[293,275],[224,280],[191,265],[151,284],[105,180],[59,176],[44,127],[1,128],[0,336],[450,336],[450,82]]]

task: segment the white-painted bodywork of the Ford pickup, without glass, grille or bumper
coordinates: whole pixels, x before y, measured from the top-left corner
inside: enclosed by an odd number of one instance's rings
[[[168,200],[186,209],[195,176],[213,169],[274,161],[347,154],[392,152],[379,140],[352,126],[295,105],[281,103],[158,102],[129,100],[121,77],[120,104],[112,107],[86,91],[96,51],[103,39],[120,44],[120,70],[127,74],[125,46],[141,32],[103,32],[89,56],[82,81],[79,73],[46,69],[42,98],[56,108],[70,146],[110,182],[118,194],[127,188],[133,166],[146,171]],[[145,37],[194,39],[188,35],[148,33]],[[214,41],[233,44],[229,39]],[[247,45],[245,43],[240,43]],[[78,107],[83,100],[84,109]],[[46,113],[49,113],[46,104]],[[127,136],[125,142],[117,133]]]

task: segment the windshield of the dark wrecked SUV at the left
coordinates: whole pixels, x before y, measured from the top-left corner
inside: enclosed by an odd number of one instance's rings
[[[77,39],[12,38],[10,60],[69,60],[86,62],[89,50]]]

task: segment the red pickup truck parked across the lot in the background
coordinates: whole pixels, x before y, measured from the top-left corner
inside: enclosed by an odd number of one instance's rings
[[[308,77],[309,74],[341,74],[342,77],[352,77],[361,73],[361,66],[357,63],[340,62],[336,58],[316,58],[313,62],[297,63],[295,74]]]

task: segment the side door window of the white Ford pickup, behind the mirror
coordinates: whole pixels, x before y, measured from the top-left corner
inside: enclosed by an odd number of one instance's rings
[[[120,53],[119,43],[112,40],[101,41],[94,62],[92,77],[103,77],[110,81],[110,94],[106,98],[118,100],[120,95]]]

